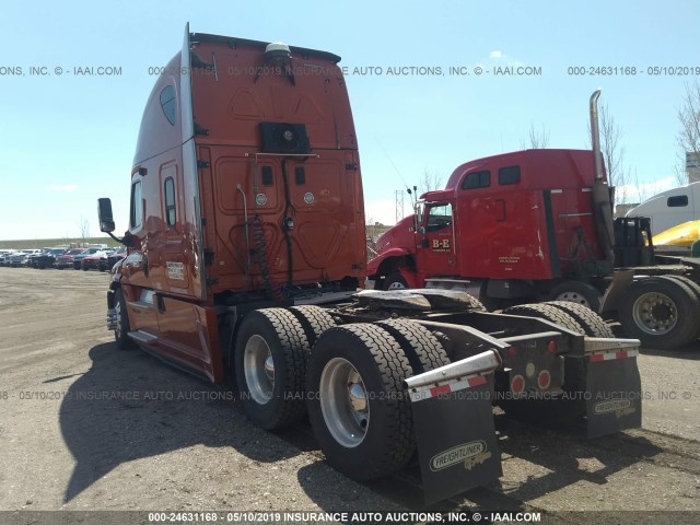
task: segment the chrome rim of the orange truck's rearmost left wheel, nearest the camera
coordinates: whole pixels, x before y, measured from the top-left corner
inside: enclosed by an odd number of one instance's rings
[[[370,428],[370,401],[362,376],[350,361],[334,358],[326,363],[318,394],[334,439],[347,448],[362,443]]]

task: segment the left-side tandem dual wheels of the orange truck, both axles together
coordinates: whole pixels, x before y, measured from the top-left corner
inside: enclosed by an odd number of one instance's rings
[[[416,443],[404,380],[448,363],[420,325],[335,326],[314,306],[249,313],[234,359],[246,416],[273,430],[307,413],[328,463],[354,479],[385,476],[411,458]]]

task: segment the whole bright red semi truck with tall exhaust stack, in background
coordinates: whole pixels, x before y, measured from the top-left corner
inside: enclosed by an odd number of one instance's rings
[[[377,240],[369,288],[463,290],[491,310],[571,301],[617,314],[628,334],[657,348],[697,338],[697,261],[651,266],[649,220],[612,220],[598,96],[594,151],[524,150],[462,164]]]

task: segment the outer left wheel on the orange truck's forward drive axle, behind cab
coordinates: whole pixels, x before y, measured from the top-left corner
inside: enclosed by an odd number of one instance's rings
[[[241,323],[234,350],[243,411],[266,430],[281,429],[305,415],[304,380],[308,340],[284,308],[256,310]]]

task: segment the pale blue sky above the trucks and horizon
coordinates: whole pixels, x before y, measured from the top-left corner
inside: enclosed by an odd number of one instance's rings
[[[131,160],[154,77],[196,32],[332,51],[348,68],[369,219],[393,223],[395,190],[424,171],[521,149],[530,125],[550,148],[586,148],[587,101],[622,131],[626,165],[651,196],[674,185],[677,108],[700,75],[700,2],[658,1],[72,1],[3,2],[0,34],[0,238],[97,234],[96,199],[126,229]],[[118,75],[56,68],[120,68]],[[541,68],[503,77],[494,67]],[[634,67],[634,75],[572,75],[569,67]],[[30,74],[30,67],[49,74]],[[358,74],[355,68],[382,68]],[[444,74],[387,74],[389,67]],[[465,67],[470,74],[450,74]],[[476,75],[476,67],[485,71]],[[22,74],[19,74],[19,69]],[[398,173],[397,173],[398,172]],[[408,202],[408,200],[407,200]],[[408,209],[407,209],[408,212]]]

